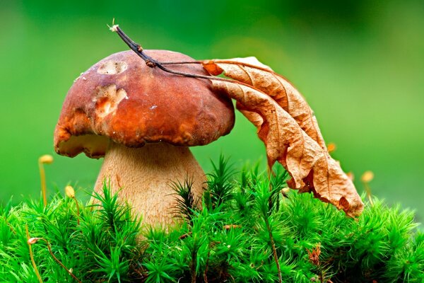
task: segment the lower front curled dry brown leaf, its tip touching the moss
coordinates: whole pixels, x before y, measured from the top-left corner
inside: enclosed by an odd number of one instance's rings
[[[315,197],[331,202],[349,216],[362,212],[363,203],[339,163],[276,100],[244,83],[212,81],[216,90],[237,101],[240,110],[257,127],[269,166],[276,161],[281,163],[292,177],[290,187],[312,191]]]

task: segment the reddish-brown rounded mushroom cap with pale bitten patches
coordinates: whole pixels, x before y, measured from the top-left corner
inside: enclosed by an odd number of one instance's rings
[[[192,61],[166,50],[144,50],[160,62]],[[169,69],[207,75],[199,64]],[[129,147],[165,141],[175,146],[209,144],[234,126],[229,98],[195,79],[150,68],[132,51],[102,59],[76,79],[54,130],[54,149],[64,156],[105,156],[109,139]]]

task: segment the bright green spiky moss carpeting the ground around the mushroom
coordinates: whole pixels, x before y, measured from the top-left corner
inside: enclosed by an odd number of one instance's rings
[[[98,207],[78,202],[79,213],[59,194],[47,207],[0,207],[0,282],[40,282],[25,226],[81,282],[423,282],[413,212],[374,199],[350,219],[310,194],[284,195],[287,178],[234,174],[221,158],[203,209],[193,209],[189,180],[173,183],[183,220],[169,231],[142,226],[107,186]],[[76,282],[47,242],[31,245],[42,282]]]

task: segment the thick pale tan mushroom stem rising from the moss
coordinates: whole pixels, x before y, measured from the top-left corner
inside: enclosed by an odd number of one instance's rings
[[[129,148],[110,141],[95,192],[102,193],[106,180],[144,224],[167,226],[175,224],[177,197],[170,183],[187,176],[193,178],[194,198],[201,197],[206,177],[188,147],[160,142]]]

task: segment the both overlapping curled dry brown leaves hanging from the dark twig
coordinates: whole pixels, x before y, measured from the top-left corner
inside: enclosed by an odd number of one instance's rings
[[[363,202],[340,164],[329,156],[305,99],[285,79],[254,60],[213,60],[204,67],[210,74],[224,71],[236,80],[212,83],[217,91],[236,100],[237,108],[257,127],[269,167],[276,161],[281,163],[292,177],[288,182],[291,188],[312,191],[348,216],[360,215]]]

